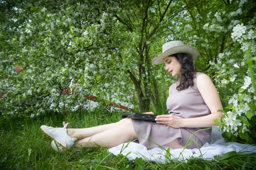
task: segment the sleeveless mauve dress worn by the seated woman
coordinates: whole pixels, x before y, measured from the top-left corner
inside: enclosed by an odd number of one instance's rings
[[[196,118],[211,114],[197,89],[197,76],[200,74],[203,73],[196,72],[193,79],[194,85],[185,90],[176,90],[178,82],[170,86],[169,97],[166,101],[169,114],[180,118]],[[187,144],[186,148],[193,149],[200,148],[206,142],[210,143],[211,141],[211,128],[208,130],[201,130],[205,128],[175,129],[167,125],[136,119],[133,119],[133,126],[138,137],[138,143],[147,148],[163,146],[178,139],[180,145],[185,146]]]

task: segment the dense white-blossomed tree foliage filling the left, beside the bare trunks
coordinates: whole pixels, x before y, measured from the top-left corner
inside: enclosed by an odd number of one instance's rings
[[[86,95],[132,102],[132,86],[125,73],[117,74],[119,54],[109,42],[116,20],[107,12],[118,10],[117,3],[3,4],[10,9],[1,22],[3,116],[78,111],[87,106]]]

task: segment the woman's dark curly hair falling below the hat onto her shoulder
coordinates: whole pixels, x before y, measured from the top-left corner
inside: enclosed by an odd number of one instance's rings
[[[181,64],[182,73],[179,77],[179,85],[177,85],[176,89],[178,91],[187,89],[189,86],[193,86],[193,78],[195,75],[195,68],[193,63],[193,58],[191,55],[187,53],[177,53],[173,54],[177,58],[179,63]]]

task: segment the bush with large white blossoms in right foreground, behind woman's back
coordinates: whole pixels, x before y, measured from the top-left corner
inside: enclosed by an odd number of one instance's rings
[[[253,143],[256,134],[256,30],[237,24],[231,37],[237,48],[219,53],[211,69],[224,100],[224,118],[220,122],[224,136],[233,141]]]

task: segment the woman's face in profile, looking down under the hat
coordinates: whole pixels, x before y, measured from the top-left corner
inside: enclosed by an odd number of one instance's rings
[[[168,56],[163,59],[165,69],[174,77],[182,73],[181,64],[174,56]]]

